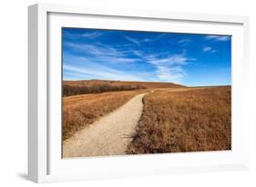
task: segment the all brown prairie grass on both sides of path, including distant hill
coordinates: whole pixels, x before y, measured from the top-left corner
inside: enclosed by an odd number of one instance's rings
[[[144,89],[63,97],[63,140],[114,112],[135,95],[148,93],[143,98],[136,133],[130,134],[128,154],[231,149],[230,86],[189,88],[179,84],[101,80],[64,84],[130,85]]]

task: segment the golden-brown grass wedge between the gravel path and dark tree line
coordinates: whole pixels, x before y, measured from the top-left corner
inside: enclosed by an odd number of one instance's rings
[[[136,94],[145,91],[124,91],[84,94],[63,98],[63,140],[98,118],[116,110]]]

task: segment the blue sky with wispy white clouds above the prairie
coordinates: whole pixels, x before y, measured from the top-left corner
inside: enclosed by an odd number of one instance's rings
[[[63,28],[64,80],[230,84],[231,37]]]

